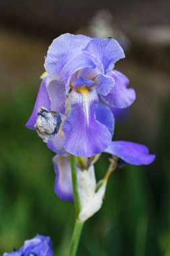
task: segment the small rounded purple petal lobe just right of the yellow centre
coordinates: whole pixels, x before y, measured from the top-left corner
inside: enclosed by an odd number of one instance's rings
[[[98,94],[106,96],[114,88],[114,78],[109,75],[100,74],[95,78],[95,86]]]

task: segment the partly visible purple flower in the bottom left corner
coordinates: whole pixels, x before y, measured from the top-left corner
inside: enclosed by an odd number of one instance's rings
[[[34,238],[25,241],[19,251],[4,253],[3,256],[52,256],[52,242],[50,237],[37,234]]]

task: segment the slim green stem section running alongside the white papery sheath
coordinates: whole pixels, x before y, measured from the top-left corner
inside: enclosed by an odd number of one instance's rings
[[[76,218],[78,218],[79,212],[81,211],[81,204],[79,199],[79,190],[78,190],[78,182],[77,182],[76,160],[75,160],[75,156],[73,155],[71,155],[71,177],[72,177],[72,183],[73,183],[75,215],[76,215]]]

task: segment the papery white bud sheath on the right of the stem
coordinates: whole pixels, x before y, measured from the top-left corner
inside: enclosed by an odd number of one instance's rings
[[[93,214],[99,211],[103,203],[106,183],[95,192],[97,184],[95,180],[94,166],[90,166],[89,170],[77,172],[79,184],[79,197],[81,202],[81,212],[79,220],[85,221]]]

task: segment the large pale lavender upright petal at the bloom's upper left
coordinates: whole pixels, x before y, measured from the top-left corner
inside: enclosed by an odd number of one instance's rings
[[[83,35],[62,34],[54,39],[45,59],[44,67],[50,77],[60,78],[69,93],[71,75],[84,67],[95,67],[95,64],[82,53],[91,38]]]

